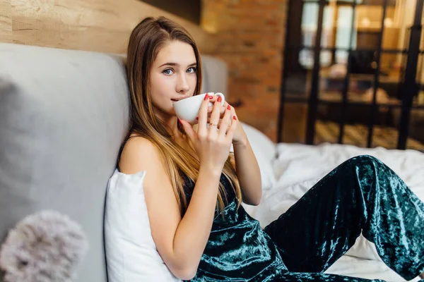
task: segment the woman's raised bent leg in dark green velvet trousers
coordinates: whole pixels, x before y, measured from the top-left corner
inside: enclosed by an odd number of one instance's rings
[[[290,271],[325,271],[362,232],[406,280],[424,271],[423,230],[423,202],[370,156],[345,161],[264,228]]]

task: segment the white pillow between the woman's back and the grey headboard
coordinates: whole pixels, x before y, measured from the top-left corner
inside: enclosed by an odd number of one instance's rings
[[[115,170],[107,185],[105,251],[109,282],[180,281],[156,250],[148,221],[143,180],[146,171]]]

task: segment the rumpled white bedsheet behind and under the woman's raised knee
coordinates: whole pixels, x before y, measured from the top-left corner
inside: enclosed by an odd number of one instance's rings
[[[382,160],[401,176],[421,200],[424,200],[424,154],[418,151],[284,143],[278,144],[277,150],[278,159],[273,163],[276,186],[264,192],[258,207],[247,207],[249,214],[257,218],[263,227],[285,212],[326,173],[343,161],[360,154],[369,154]],[[362,278],[380,278],[386,281],[404,281],[379,259],[375,245],[369,243],[362,235],[351,250],[326,272]],[[416,278],[413,281],[418,280]]]

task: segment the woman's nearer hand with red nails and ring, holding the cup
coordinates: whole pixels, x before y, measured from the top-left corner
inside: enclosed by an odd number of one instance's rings
[[[213,102],[210,114],[208,114],[209,102]],[[222,114],[221,108],[218,99],[210,99],[206,94],[199,110],[197,133],[187,121],[179,120],[194,145],[201,167],[218,170],[219,173],[223,170],[235,131],[239,126],[231,107],[228,105]],[[207,123],[209,127],[206,126]]]

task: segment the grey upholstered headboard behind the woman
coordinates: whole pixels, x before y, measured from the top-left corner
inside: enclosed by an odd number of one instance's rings
[[[225,63],[204,58],[203,91],[225,93]],[[119,56],[0,44],[0,240],[24,216],[57,210],[88,236],[77,281],[107,281],[103,208],[128,96]]]

